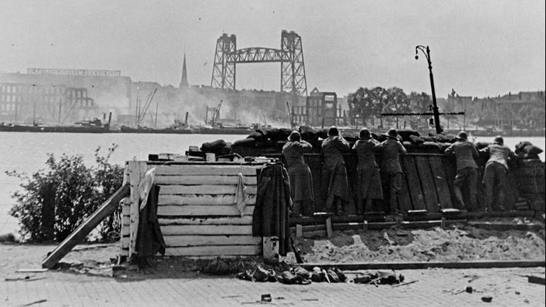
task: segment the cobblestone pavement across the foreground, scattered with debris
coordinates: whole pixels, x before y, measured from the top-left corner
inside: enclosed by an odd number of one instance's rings
[[[16,273],[39,267],[48,246],[0,244],[0,306],[545,306],[545,286],[525,275],[545,268],[424,269],[400,271],[403,286],[313,283],[289,286],[228,277],[142,279],[69,272]],[[21,257],[13,257],[20,255]],[[7,279],[29,276],[29,281]],[[349,275],[350,279],[355,275]],[[463,290],[472,286],[473,293]],[[462,292],[461,292],[462,291]],[[270,294],[272,302],[260,302]],[[491,303],[481,301],[491,296]],[[31,304],[31,305],[29,305]]]

